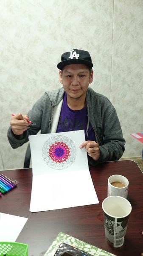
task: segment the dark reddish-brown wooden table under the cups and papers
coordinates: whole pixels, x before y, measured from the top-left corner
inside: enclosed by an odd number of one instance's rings
[[[143,173],[134,161],[114,161],[90,166],[90,174],[99,204],[45,212],[29,211],[32,169],[0,171],[20,183],[0,198],[0,211],[28,218],[17,242],[28,244],[29,256],[42,256],[58,235],[64,232],[117,256],[140,256],[143,252]],[[110,175],[124,175],[129,180],[128,200],[132,204],[125,242],[112,248],[105,241],[102,201],[107,197],[107,180]],[[66,191],[65,191],[66,193]],[[42,197],[42,193],[41,193]],[[64,200],[64,198],[63,198]]]

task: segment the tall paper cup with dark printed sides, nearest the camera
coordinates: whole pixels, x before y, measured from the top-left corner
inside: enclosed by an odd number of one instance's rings
[[[109,196],[102,202],[102,209],[106,241],[112,247],[121,247],[124,243],[132,206],[126,198]]]

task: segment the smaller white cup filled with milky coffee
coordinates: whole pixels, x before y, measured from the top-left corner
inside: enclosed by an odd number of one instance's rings
[[[116,185],[116,186],[115,186]],[[117,187],[117,185],[124,185],[123,187]],[[112,175],[108,178],[108,195],[118,195],[123,198],[128,197],[129,180],[122,175]]]

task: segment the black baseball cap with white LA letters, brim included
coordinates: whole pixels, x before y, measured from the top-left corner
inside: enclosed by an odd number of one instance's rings
[[[57,65],[59,70],[62,70],[64,66],[70,64],[84,64],[92,68],[93,63],[89,52],[79,49],[73,49],[69,52],[64,52],[61,56],[61,62]]]

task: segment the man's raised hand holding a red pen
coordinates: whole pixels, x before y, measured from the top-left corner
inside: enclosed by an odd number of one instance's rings
[[[21,135],[23,134],[24,131],[27,130],[28,128],[28,123],[29,118],[27,115],[22,116],[22,114],[17,114],[11,117],[11,130],[15,135]]]

